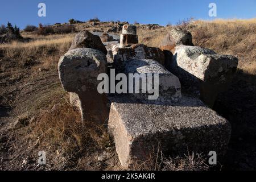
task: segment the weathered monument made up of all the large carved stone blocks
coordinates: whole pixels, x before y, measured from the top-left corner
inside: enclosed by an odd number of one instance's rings
[[[83,119],[90,115],[92,122],[102,123],[108,118],[108,130],[123,167],[143,162],[156,151],[166,155],[187,151],[208,154],[212,150],[225,154],[230,124],[208,106],[231,82],[236,57],[195,47],[191,34],[180,29],[172,29],[160,49],[147,47],[138,44],[137,28],[125,25],[120,44],[104,43],[107,61],[98,39],[80,32],[72,50],[60,59],[59,75]],[[74,45],[82,48],[73,49],[77,47]],[[138,93],[99,94],[97,76],[110,75],[110,66],[123,75],[135,74],[133,78],[141,82],[143,76],[146,81],[158,75],[154,88],[159,88],[159,97],[148,100],[152,94],[142,87]],[[110,108],[107,103],[111,103]]]

